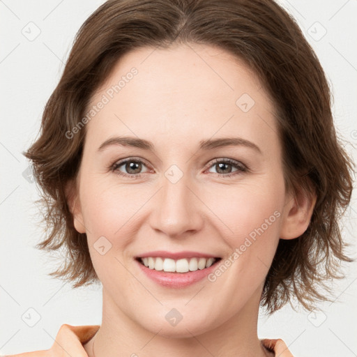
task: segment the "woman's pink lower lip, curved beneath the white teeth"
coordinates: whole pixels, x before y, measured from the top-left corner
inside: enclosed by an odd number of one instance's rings
[[[182,288],[188,287],[189,285],[195,284],[206,278],[210,273],[213,273],[217,268],[219,261],[215,261],[215,264],[211,265],[209,268],[204,268],[197,271],[188,271],[187,273],[168,273],[166,271],[155,271],[155,269],[149,269],[144,264],[141,264],[135,259],[135,262],[142,269],[143,273],[146,274],[148,278],[162,285],[163,287],[172,288]]]

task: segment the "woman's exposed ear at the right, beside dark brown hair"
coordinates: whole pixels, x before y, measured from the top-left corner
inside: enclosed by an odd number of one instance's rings
[[[288,195],[280,229],[281,239],[294,239],[306,231],[310,224],[316,199],[315,192],[310,193],[303,189],[295,194]]]

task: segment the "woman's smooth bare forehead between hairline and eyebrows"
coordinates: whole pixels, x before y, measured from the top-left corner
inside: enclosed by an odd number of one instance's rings
[[[172,142],[213,135],[250,137],[273,130],[273,104],[243,61],[206,45],[144,47],[128,52],[93,95],[105,105],[88,135],[151,134]],[[118,132],[113,132],[118,131]],[[276,135],[276,133],[275,133]],[[201,139],[201,138],[199,138]]]

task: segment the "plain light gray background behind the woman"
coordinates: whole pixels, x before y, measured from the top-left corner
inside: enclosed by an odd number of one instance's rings
[[[48,277],[55,261],[33,248],[42,236],[33,203],[38,192],[24,174],[28,162],[22,151],[38,134],[43,107],[59,81],[75,33],[103,2],[0,1],[0,354],[49,349],[61,324],[101,321],[101,288],[73,290]],[[357,144],[357,1],[280,3],[296,18],[326,70],[337,131]],[[36,31],[40,33],[34,38]],[[353,146],[347,150],[356,160]],[[349,250],[354,256],[356,217],[354,192],[343,232],[354,244]],[[259,337],[282,338],[296,357],[357,356],[356,264],[346,271],[346,280],[334,282],[336,301],[320,305],[324,313],[294,312],[287,306],[270,319],[261,315]],[[40,320],[28,326],[37,314]]]

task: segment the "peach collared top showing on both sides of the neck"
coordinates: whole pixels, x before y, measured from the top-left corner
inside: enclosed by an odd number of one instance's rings
[[[88,357],[83,344],[91,340],[100,325],[71,326],[63,324],[50,349],[6,355],[4,357]],[[275,353],[276,357],[294,357],[283,340],[264,338],[261,343]],[[1,356],[0,356],[1,357]]]

